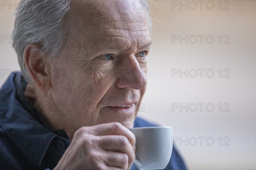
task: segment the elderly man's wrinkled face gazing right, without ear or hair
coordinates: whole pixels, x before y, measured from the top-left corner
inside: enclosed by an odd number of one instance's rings
[[[70,39],[50,63],[58,77],[52,75],[52,99],[74,129],[107,122],[132,127],[147,84],[145,10],[134,10],[133,1],[109,9],[86,2],[71,2]]]

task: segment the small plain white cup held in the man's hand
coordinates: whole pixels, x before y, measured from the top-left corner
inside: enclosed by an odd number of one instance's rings
[[[172,155],[172,127],[130,128],[136,136],[136,159],[139,170],[164,169]]]

